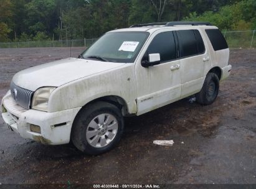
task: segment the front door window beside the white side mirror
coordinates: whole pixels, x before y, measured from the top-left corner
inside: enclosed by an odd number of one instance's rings
[[[177,58],[173,32],[162,32],[152,40],[148,47],[148,54],[159,53],[161,62],[168,62]]]

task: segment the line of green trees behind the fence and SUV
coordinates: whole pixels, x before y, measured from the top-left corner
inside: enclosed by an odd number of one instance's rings
[[[0,0],[0,42],[96,38],[108,30],[163,21],[255,29],[256,1]]]

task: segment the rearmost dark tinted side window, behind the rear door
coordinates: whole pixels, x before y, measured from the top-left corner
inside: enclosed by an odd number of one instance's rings
[[[229,48],[219,29],[206,29],[206,34],[208,35],[215,51]]]

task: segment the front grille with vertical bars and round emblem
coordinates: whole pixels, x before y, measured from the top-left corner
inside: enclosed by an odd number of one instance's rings
[[[11,83],[12,98],[16,101],[17,104],[19,104],[19,106],[22,106],[25,109],[31,108],[31,98],[33,93],[33,91],[21,88],[15,85],[13,82]]]

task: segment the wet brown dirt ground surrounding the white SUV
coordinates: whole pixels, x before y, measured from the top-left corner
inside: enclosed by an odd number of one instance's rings
[[[69,56],[69,48],[0,49],[0,99],[17,71]],[[214,104],[187,98],[126,118],[120,144],[94,157],[22,139],[0,118],[0,183],[256,183],[256,50],[231,50],[230,64]]]

